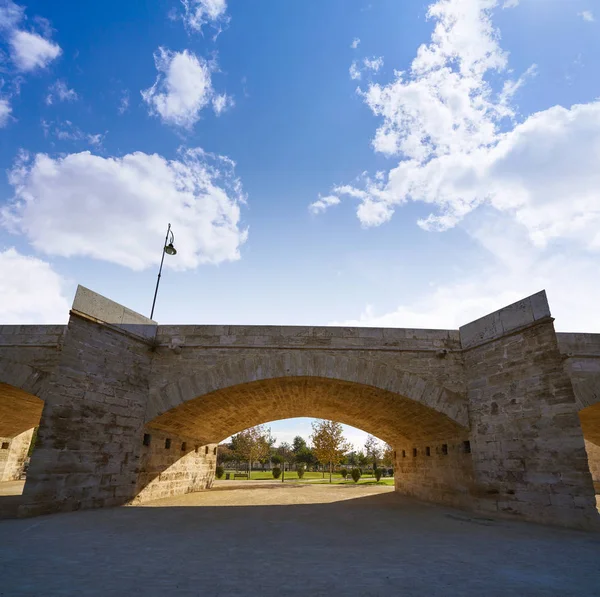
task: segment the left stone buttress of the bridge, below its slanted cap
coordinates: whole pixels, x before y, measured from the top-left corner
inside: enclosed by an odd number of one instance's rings
[[[71,315],[44,396],[20,515],[115,506],[134,497],[151,355],[140,338]]]

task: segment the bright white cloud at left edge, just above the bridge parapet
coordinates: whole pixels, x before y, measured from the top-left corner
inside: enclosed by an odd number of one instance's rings
[[[66,282],[49,263],[10,248],[0,251],[0,271],[2,323],[66,323]]]

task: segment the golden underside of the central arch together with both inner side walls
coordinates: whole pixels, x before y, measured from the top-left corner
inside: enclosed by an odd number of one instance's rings
[[[455,452],[454,447],[469,440],[469,430],[444,412],[446,405],[441,404],[440,410],[432,406],[443,401],[442,389],[423,382],[418,395],[421,399],[415,400],[373,385],[301,375],[248,381],[191,396],[147,421],[145,437],[150,436],[151,442],[142,450],[135,501],[210,487],[218,443],[259,424],[311,417],[339,421],[390,444],[400,473],[398,491],[432,501],[442,492],[450,496],[447,501],[460,503],[472,483],[472,463],[470,454],[458,448]],[[175,446],[201,449],[169,452],[164,448],[167,439]],[[426,460],[398,457],[415,449],[425,454],[426,446]],[[429,495],[434,488],[436,495]]]

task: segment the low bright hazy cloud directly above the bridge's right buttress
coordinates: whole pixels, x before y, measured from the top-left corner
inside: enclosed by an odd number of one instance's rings
[[[590,317],[600,295],[597,257],[573,247],[536,247],[525,227],[507,214],[469,219],[466,232],[483,251],[461,267],[456,281],[434,284],[391,312],[377,314],[367,306],[357,319],[331,325],[457,329],[545,289],[559,331],[600,332],[600,319]]]

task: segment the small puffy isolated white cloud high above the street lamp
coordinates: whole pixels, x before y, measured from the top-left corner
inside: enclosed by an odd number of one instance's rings
[[[163,122],[190,129],[213,96],[211,65],[193,52],[159,48],[154,54],[159,74],[152,87],[142,91],[151,114]]]

